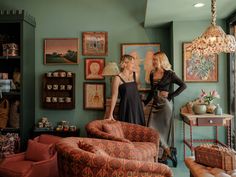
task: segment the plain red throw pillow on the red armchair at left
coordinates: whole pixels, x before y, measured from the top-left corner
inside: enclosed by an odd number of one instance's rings
[[[37,141],[29,140],[28,147],[25,154],[26,160],[31,161],[42,161],[48,160],[51,157],[51,147],[52,145],[39,143]]]

